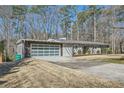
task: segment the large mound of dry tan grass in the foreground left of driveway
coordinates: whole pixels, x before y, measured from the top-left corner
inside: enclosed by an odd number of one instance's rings
[[[22,62],[0,78],[0,87],[123,87],[87,73],[41,60]]]

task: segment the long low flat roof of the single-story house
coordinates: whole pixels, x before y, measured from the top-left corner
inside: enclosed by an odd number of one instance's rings
[[[36,40],[36,39],[20,39],[17,41],[16,44],[19,44],[21,42],[40,42],[40,43],[56,43],[56,44],[80,44],[80,45],[95,45],[95,46],[109,46],[107,43],[101,43],[101,42],[90,42],[90,41],[74,41],[74,40],[65,40],[65,41],[59,41],[59,40]]]

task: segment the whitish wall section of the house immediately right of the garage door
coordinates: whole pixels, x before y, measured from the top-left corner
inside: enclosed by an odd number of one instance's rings
[[[72,45],[63,44],[62,48],[63,56],[72,56],[73,55],[72,49],[73,49]]]

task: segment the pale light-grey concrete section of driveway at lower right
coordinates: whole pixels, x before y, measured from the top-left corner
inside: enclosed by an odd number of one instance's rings
[[[85,71],[90,72],[91,74],[104,77],[106,79],[119,81],[124,83],[124,65],[123,64],[104,64],[99,66],[92,66]]]

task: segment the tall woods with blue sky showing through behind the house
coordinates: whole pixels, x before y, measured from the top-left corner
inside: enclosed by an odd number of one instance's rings
[[[17,40],[27,38],[102,42],[122,53],[123,22],[124,6],[0,6],[0,41],[7,56]]]

